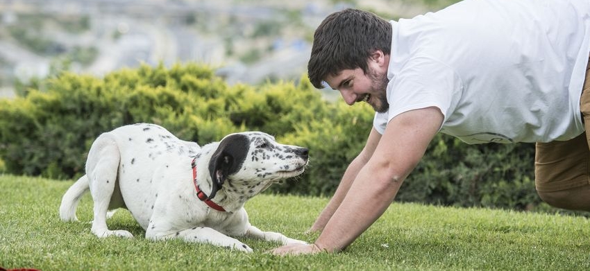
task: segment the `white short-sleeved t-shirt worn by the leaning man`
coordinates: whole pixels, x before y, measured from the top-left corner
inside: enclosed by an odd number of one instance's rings
[[[465,0],[391,21],[387,100],[398,114],[438,107],[466,143],[568,140],[584,132],[589,0]]]

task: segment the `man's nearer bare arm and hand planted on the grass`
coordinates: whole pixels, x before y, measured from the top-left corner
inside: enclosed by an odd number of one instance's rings
[[[389,121],[373,156],[359,171],[317,241],[312,245],[278,247],[273,253],[336,252],[353,243],[393,202],[442,121],[443,115],[435,107],[405,112]]]

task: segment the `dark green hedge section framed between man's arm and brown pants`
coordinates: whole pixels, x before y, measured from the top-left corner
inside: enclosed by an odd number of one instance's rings
[[[534,144],[467,145],[438,134],[403,184],[399,200],[534,209]]]

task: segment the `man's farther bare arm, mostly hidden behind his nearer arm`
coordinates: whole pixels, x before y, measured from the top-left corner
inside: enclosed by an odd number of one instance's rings
[[[362,151],[360,152],[355,159],[348,165],[344,175],[342,176],[342,180],[336,189],[336,192],[326,205],[326,208],[318,216],[317,220],[314,222],[314,225],[309,229],[309,231],[321,231],[323,227],[326,227],[326,223],[328,220],[332,218],[332,215],[340,206],[342,200],[344,200],[344,196],[348,193],[348,189],[350,189],[351,184],[357,177],[357,174],[361,170],[362,167],[366,164],[367,161],[373,155],[377,144],[379,143],[379,139],[381,138],[381,134],[375,130],[375,128],[371,129],[371,133],[369,134],[369,139],[366,140],[366,144]]]

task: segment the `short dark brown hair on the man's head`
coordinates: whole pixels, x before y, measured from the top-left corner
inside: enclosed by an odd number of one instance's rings
[[[323,19],[314,33],[307,74],[319,89],[326,76],[344,69],[361,68],[374,51],[391,51],[391,24],[371,12],[347,8]]]

